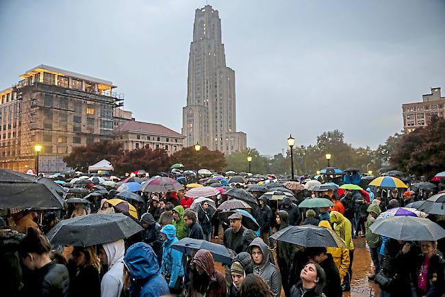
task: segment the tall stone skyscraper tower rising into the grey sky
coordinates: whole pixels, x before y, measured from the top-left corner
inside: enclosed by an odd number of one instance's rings
[[[210,5],[195,12],[182,133],[184,146],[227,154],[246,149],[246,133],[236,131],[235,71],[226,66],[221,20]]]

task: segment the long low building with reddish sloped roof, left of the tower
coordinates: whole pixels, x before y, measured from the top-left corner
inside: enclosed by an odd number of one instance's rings
[[[114,129],[115,141],[122,142],[125,150],[148,146],[155,150],[163,148],[168,155],[181,151],[184,146],[184,135],[167,127],[150,122],[127,120]]]

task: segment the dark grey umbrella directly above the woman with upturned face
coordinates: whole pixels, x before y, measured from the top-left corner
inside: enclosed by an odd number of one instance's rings
[[[344,241],[331,229],[313,225],[289,226],[270,236],[274,240],[298,246],[346,248]]]

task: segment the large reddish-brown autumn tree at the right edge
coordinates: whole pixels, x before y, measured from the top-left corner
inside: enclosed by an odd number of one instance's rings
[[[444,148],[445,119],[432,116],[428,126],[398,140],[390,162],[404,172],[431,178],[445,168]]]

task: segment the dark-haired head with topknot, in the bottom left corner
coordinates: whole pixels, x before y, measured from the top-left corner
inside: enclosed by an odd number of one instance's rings
[[[51,244],[49,244],[47,237],[44,237],[38,229],[31,227],[28,228],[27,235],[18,246],[18,254],[22,263],[29,270],[41,268],[42,263],[44,263],[42,260],[49,259],[50,251]]]

